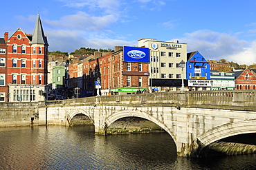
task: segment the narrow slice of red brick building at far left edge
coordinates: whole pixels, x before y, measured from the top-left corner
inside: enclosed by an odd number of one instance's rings
[[[0,102],[8,102],[8,85],[7,85],[7,45],[6,41],[0,39]]]

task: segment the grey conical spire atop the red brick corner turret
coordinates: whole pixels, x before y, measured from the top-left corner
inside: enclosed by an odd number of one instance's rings
[[[37,22],[35,23],[35,29],[32,37],[31,44],[45,44],[48,45],[46,36],[44,36],[44,30],[42,27],[41,19],[37,14]]]

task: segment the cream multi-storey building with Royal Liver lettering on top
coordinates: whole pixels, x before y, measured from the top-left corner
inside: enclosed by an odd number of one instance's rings
[[[149,63],[149,89],[152,91],[169,91],[181,89],[185,79],[186,68],[180,67],[180,62],[187,61],[187,44],[175,42],[162,42],[156,39],[140,39],[138,47],[147,47],[150,50]],[[187,86],[185,81],[185,86]]]

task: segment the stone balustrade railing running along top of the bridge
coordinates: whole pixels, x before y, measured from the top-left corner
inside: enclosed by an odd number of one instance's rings
[[[256,107],[256,90],[156,92],[46,101],[46,105],[219,105]]]

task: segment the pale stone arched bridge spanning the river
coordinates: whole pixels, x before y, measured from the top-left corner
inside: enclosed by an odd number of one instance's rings
[[[165,129],[178,156],[196,156],[212,142],[256,133],[256,90],[201,91],[97,96],[48,101],[39,108],[39,124],[69,125],[77,114],[88,116],[95,134],[125,117],[138,117]]]

